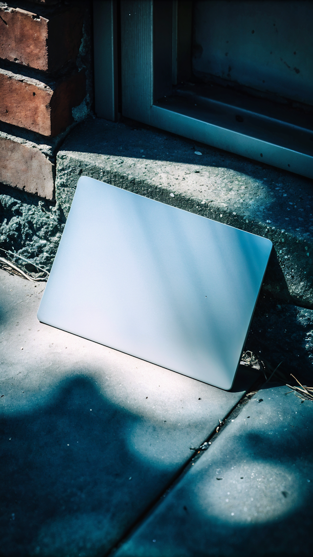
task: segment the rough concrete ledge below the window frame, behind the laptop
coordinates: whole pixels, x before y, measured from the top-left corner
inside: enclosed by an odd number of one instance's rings
[[[57,155],[56,198],[65,214],[82,174],[270,238],[275,252],[263,289],[313,307],[310,179],[143,124],[101,119],[82,123]]]

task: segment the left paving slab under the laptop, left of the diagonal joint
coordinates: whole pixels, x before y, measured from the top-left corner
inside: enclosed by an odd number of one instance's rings
[[[256,375],[224,392],[43,325],[44,286],[0,270],[1,552],[102,555]]]

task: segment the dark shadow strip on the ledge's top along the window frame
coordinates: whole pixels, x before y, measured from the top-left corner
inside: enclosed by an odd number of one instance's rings
[[[90,126],[92,126],[92,134],[89,131]],[[106,126],[109,126],[107,131]],[[170,150],[167,143],[169,139],[172,140]],[[173,149],[173,140],[177,140],[177,149]],[[237,172],[243,172],[243,169],[245,169],[247,175],[258,180],[268,178],[268,173],[270,173],[276,178],[280,175],[280,177],[291,178],[291,180],[297,179],[306,184],[308,188],[311,187],[309,178],[124,117],[120,119],[119,124],[113,124],[102,118],[85,120],[75,129],[75,142],[77,142],[77,151],[85,153],[140,159],[144,157],[147,160],[192,163],[205,167],[209,165],[213,167],[221,166]],[[73,138],[71,138],[71,149],[72,143]],[[186,160],[188,146],[190,160]],[[194,150],[198,148],[201,149],[203,156],[195,159]],[[67,141],[65,140],[62,150],[66,151],[66,149]],[[266,176],[264,169],[268,171]],[[274,189],[274,192],[277,192],[277,190]],[[278,193],[276,193],[276,196],[278,199]]]

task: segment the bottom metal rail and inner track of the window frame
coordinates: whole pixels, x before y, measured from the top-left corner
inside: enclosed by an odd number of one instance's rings
[[[151,106],[150,124],[313,178],[311,115],[233,92],[221,96],[178,90]]]

